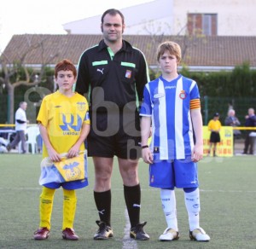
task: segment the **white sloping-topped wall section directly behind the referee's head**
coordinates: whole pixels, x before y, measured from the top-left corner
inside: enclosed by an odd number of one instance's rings
[[[125,16],[126,35],[170,34],[172,33],[174,0],[155,0],[120,9]],[[101,15],[75,20],[63,27],[72,34],[100,34]]]

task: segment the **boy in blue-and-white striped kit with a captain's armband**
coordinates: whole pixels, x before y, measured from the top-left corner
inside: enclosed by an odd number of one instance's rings
[[[167,228],[159,240],[179,238],[174,188],[183,188],[189,237],[208,241],[209,235],[199,224],[197,162],[203,157],[203,139],[198,86],[194,80],[177,73],[181,61],[181,48],[177,43],[161,43],[157,61],[162,74],[146,84],[140,115],[142,154],[144,162],[149,164],[149,186],[160,188],[166,216]],[[152,140],[148,147],[151,125]]]

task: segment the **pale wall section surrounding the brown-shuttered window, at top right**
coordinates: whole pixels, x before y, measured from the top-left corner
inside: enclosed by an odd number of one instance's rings
[[[218,36],[256,36],[255,0],[174,0],[173,4],[174,34],[186,26],[188,13],[217,13]]]

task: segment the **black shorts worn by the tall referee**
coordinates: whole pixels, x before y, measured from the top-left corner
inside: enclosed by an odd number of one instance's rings
[[[88,156],[121,159],[141,157],[138,113],[90,113]]]

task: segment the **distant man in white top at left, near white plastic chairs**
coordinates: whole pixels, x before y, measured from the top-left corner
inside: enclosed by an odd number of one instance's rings
[[[15,139],[7,145],[7,150],[15,148],[21,141],[22,153],[26,153],[26,124],[29,123],[26,119],[26,101],[20,102],[20,107],[15,113]]]

